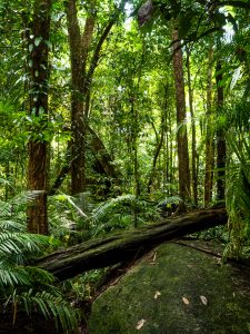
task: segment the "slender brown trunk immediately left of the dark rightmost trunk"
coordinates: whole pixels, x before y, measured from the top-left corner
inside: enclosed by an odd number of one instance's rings
[[[206,167],[204,167],[204,205],[212,200],[213,168],[214,168],[214,139],[211,129],[211,110],[212,110],[212,48],[209,53],[209,68],[207,81],[207,125],[206,125]]]

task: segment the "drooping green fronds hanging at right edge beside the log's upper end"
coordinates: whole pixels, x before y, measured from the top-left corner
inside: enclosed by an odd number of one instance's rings
[[[250,143],[249,109],[247,104],[239,104],[230,114],[231,129],[227,134],[231,151],[230,173],[226,204],[229,214],[230,243],[227,255],[239,256],[244,240],[250,235]]]

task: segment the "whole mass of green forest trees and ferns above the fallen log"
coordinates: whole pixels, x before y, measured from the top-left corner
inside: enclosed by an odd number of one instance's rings
[[[226,203],[226,253],[242,253],[248,1],[2,0],[0,18],[0,297],[13,321],[36,304],[76,327],[32,259],[54,237],[152,223],[162,205]]]

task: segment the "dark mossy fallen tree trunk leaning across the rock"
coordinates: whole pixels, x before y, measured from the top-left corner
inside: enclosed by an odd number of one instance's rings
[[[163,242],[226,223],[223,208],[191,213],[56,252],[37,265],[63,281],[90,269],[136,259]]]

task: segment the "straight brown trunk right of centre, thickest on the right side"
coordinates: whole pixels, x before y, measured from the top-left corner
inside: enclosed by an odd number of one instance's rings
[[[178,144],[178,168],[179,168],[179,193],[183,202],[190,198],[190,169],[188,136],[186,126],[186,98],[183,61],[180,42],[178,41],[178,30],[173,31],[173,73],[176,84],[176,105],[177,105],[177,144]]]

